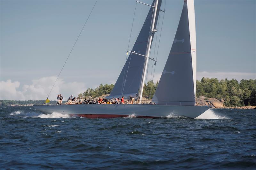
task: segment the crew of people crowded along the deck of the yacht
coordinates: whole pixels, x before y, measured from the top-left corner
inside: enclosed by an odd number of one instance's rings
[[[57,105],[62,103],[63,97],[61,94],[57,96]],[[124,100],[124,96],[119,99],[119,98],[112,98],[112,99],[106,99],[106,98],[99,98],[96,100],[90,100],[90,99],[82,99],[79,97],[73,97],[73,95],[68,97],[68,102],[65,104],[71,105],[71,104],[135,104],[134,103],[134,97],[130,96],[129,100]]]

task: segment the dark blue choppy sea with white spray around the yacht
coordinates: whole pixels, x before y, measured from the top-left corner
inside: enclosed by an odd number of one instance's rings
[[[86,119],[0,107],[0,168],[256,168],[256,110],[199,118]]]

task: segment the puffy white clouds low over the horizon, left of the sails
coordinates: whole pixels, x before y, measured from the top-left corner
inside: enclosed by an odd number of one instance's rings
[[[56,77],[43,77],[32,80],[32,84],[23,85],[20,88],[20,82],[12,80],[0,82],[0,100],[44,100],[47,98]],[[18,90],[20,89],[20,90]],[[65,82],[59,79],[49,96],[50,100],[55,100],[58,94],[62,94],[64,100],[69,95],[76,96],[86,90],[85,83]]]

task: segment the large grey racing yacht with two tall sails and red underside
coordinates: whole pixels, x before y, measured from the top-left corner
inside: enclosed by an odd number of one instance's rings
[[[141,3],[137,1],[138,3]],[[145,4],[145,3],[142,3]],[[194,0],[184,0],[179,25],[167,62],[152,101],[141,104],[148,60],[162,0],[154,0],[129,57],[108,98],[134,98],[138,104],[80,104],[34,106],[44,113],[58,112],[87,118],[115,118],[134,115],[139,118],[185,116],[196,118],[209,109],[196,106],[196,25]]]

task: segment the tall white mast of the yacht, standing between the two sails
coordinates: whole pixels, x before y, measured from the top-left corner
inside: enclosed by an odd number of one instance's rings
[[[145,79],[146,79],[146,73],[147,73],[147,69],[148,69],[148,57],[149,57],[149,54],[150,54],[152,38],[153,38],[154,33],[156,32],[154,27],[155,27],[155,20],[156,20],[157,5],[158,5],[158,0],[155,0],[154,13],[153,13],[152,21],[151,21],[150,33],[149,33],[149,36],[148,36],[148,46],[147,46],[147,50],[146,50],[146,61],[144,63],[143,76],[142,76],[142,81],[141,81],[141,85],[140,85],[140,92],[139,92],[139,94],[140,94],[139,100],[140,101],[139,101],[139,104],[141,104],[143,87],[144,87],[144,83],[145,83]]]

